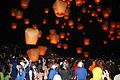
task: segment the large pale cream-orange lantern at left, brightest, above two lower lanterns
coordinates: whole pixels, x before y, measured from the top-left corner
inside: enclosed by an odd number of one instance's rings
[[[36,45],[39,37],[39,30],[34,28],[27,28],[25,30],[25,41],[26,44]]]

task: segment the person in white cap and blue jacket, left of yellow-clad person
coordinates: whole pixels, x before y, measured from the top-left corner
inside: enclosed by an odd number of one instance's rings
[[[87,70],[83,67],[83,62],[80,61],[77,64],[78,68],[76,69],[76,78],[77,80],[86,80]]]

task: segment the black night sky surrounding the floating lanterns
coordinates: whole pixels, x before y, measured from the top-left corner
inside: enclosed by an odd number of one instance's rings
[[[0,43],[12,43],[22,46],[27,46],[24,39],[24,31],[28,27],[32,27],[33,24],[38,26],[38,29],[42,31],[42,37],[38,40],[36,46],[44,45],[47,46],[50,51],[58,54],[74,55],[76,53],[76,47],[82,47],[83,51],[89,51],[91,56],[107,55],[109,57],[118,56],[120,53],[120,39],[110,40],[108,31],[103,31],[101,25],[107,21],[120,22],[120,2],[119,0],[102,0],[100,4],[96,4],[94,0],[86,0],[85,4],[76,6],[75,1],[71,2],[69,9],[70,17],[69,20],[74,20],[74,28],[70,28],[65,25],[65,28],[61,28],[65,20],[63,18],[57,18],[54,14],[52,5],[55,0],[31,0],[27,9],[20,7],[20,0],[0,0]],[[88,5],[92,4],[92,8],[88,8]],[[88,13],[82,13],[82,8],[87,10],[95,11],[97,6],[101,6],[102,9],[111,8],[109,18],[103,18],[102,12],[99,13],[98,17],[103,19],[102,23],[99,23],[96,18],[92,17]],[[24,12],[23,18],[17,20],[11,16],[11,9],[16,8]],[[45,14],[44,9],[48,8],[49,13]],[[80,17],[81,21],[78,22],[77,18]],[[23,23],[24,18],[30,19],[30,24],[25,25]],[[47,23],[43,24],[42,20],[46,19]],[[55,24],[55,20],[59,19],[60,23]],[[90,23],[89,20],[93,22]],[[16,22],[17,28],[12,29],[11,23]],[[85,27],[83,30],[77,30],[78,24],[83,24]],[[109,24],[110,27],[110,24]],[[57,33],[69,32],[69,40],[62,39],[61,43],[67,43],[69,45],[67,50],[63,48],[57,49],[56,45],[51,44],[46,36],[49,34],[50,29],[56,29]],[[118,28],[120,30],[120,28]],[[116,36],[116,34],[114,34]],[[90,45],[83,45],[83,38],[90,38]],[[107,44],[103,44],[103,41],[107,40]]]

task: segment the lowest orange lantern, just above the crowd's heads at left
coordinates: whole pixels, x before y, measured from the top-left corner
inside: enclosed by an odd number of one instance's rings
[[[27,55],[29,60],[35,62],[39,59],[39,49],[38,48],[28,49]]]

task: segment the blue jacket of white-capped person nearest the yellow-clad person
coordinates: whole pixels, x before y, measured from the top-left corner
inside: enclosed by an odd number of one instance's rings
[[[87,70],[83,67],[78,67],[76,69],[76,76],[77,76],[78,80],[86,80]]]

